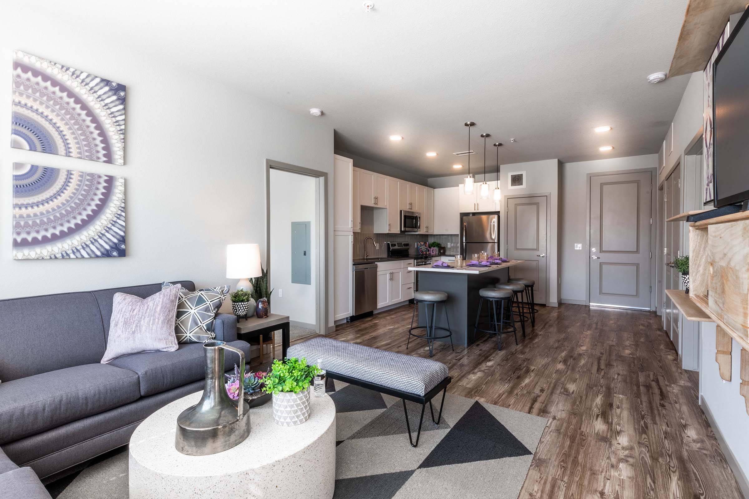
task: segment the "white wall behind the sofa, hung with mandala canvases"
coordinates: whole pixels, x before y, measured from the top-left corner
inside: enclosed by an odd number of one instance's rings
[[[10,149],[0,155],[0,298],[192,279],[198,286],[235,284],[225,278],[225,245],[265,244],[266,159],[329,174],[333,192],[333,129],[312,117],[270,105],[220,79],[159,61],[158,47],[138,53],[124,40],[85,37],[99,14],[69,19],[66,8],[28,15],[28,4],[3,4],[0,14],[0,137],[10,136],[12,50],[22,49],[127,85],[125,165]],[[81,10],[82,12],[82,10]],[[211,61],[204,61],[211,64]],[[216,72],[230,68],[216,68]],[[127,257],[11,260],[11,168],[31,162],[126,178]],[[328,240],[333,206],[328,206]],[[332,260],[332,244],[327,245]],[[329,293],[333,270],[329,269]],[[333,310],[330,310],[332,324]]]

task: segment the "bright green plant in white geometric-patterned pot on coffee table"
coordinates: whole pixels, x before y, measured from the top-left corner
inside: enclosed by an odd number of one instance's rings
[[[309,419],[309,387],[320,370],[305,358],[273,361],[263,379],[263,391],[273,394],[273,419],[281,426],[296,426]]]

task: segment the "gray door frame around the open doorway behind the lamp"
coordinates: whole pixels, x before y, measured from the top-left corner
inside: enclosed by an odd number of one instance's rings
[[[328,174],[324,171],[312,170],[303,166],[290,165],[274,159],[265,160],[265,265],[268,272],[268,283],[270,284],[270,171],[288,171],[293,174],[315,177],[317,194],[315,195],[315,227],[317,227],[315,251],[317,254],[317,265],[315,265],[315,325],[318,334],[327,334],[328,330],[328,293],[327,293],[327,199],[328,199]]]

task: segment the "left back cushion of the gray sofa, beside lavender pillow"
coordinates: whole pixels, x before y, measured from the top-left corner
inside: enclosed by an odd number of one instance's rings
[[[0,301],[0,381],[101,359],[101,313],[91,293]]]

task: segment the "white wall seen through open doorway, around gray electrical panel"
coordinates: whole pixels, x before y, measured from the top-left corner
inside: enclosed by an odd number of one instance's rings
[[[315,324],[317,320],[316,184],[314,177],[288,171],[270,171],[270,253],[273,255],[270,287],[274,290],[270,297],[271,308],[273,313],[288,315],[289,319],[306,324]],[[311,223],[311,284],[291,282],[291,222],[294,221]]]

